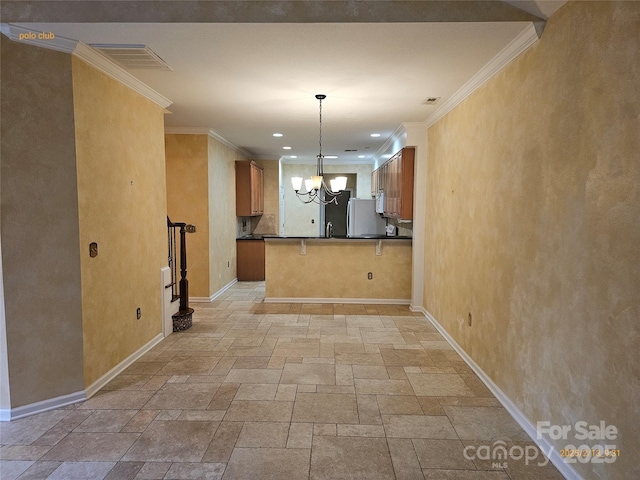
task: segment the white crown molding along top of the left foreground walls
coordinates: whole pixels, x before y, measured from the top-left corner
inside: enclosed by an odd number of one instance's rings
[[[97,50],[82,42],[71,38],[61,37],[59,35],[56,35],[53,38],[38,38],[47,32],[30,30],[10,23],[1,24],[0,31],[14,42],[26,43],[36,47],[75,55],[96,70],[129,87],[131,90],[139,93],[162,108],[167,108],[173,103],[171,100],[162,96],[154,89],[124,70],[120,65],[112,62]]]

